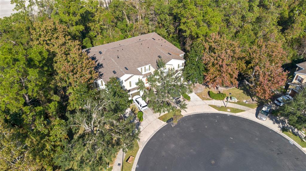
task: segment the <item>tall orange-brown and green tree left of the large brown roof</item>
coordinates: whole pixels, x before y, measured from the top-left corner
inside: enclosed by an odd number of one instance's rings
[[[81,50],[80,43],[69,36],[68,28],[52,19],[35,22],[32,44],[43,46],[54,61],[55,78],[60,86],[77,87],[92,83],[98,76],[95,61]]]

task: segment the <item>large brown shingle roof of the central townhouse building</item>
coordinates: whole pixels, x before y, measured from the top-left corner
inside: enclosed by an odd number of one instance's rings
[[[151,64],[157,68],[156,61],[159,55],[167,63],[171,59],[184,60],[179,55],[185,54],[156,33],[103,44],[83,51],[96,61],[95,69],[104,82],[109,81],[112,76],[120,78],[125,74],[142,75],[137,68],[145,65]]]

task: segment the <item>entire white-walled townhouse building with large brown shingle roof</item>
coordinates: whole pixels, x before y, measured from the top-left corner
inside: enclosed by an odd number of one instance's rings
[[[122,86],[128,90],[130,98],[142,95],[136,83],[142,79],[148,85],[147,76],[157,69],[156,61],[162,59],[166,68],[175,70],[184,67],[185,54],[156,33],[148,33],[117,42],[84,49],[89,57],[96,61],[99,79],[95,87],[103,89],[110,77],[121,80]]]

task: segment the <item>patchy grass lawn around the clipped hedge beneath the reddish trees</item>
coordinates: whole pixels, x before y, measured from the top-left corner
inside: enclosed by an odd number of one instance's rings
[[[208,91],[218,93],[218,91],[216,91],[215,89],[206,88],[202,92],[196,93],[196,95],[199,96],[202,100],[212,100],[208,95]],[[250,96],[246,95],[243,90],[238,89],[236,87],[232,89],[228,89],[228,90],[223,90],[220,92],[225,93],[226,96],[229,96],[230,93],[232,93],[232,96],[236,97],[236,99],[238,100],[238,102],[230,102],[230,103],[239,104],[241,106],[246,106],[246,107],[253,108],[253,109],[258,106],[256,102],[255,103],[252,102],[252,99]],[[248,100],[249,103],[244,103],[243,102],[244,100]]]

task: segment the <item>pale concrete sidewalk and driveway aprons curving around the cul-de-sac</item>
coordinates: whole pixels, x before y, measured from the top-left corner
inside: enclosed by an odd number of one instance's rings
[[[256,118],[256,115],[257,115],[256,112],[258,112],[258,111],[256,111],[256,109],[252,109],[252,108],[249,108],[249,107],[246,107],[246,106],[241,106],[241,105],[237,105],[237,104],[233,104],[233,103],[228,103],[227,106],[237,108],[237,109],[241,109],[241,110],[246,110],[246,111],[241,112],[241,113],[221,112],[221,111],[218,111],[218,110],[212,108],[209,105],[225,106],[223,101],[201,100],[195,93],[191,93],[191,94],[189,94],[189,96],[191,97],[191,100],[187,102],[187,109],[185,111],[184,110],[181,111],[181,114],[183,116],[187,116],[187,115],[195,114],[195,113],[224,113],[224,114],[231,114],[231,115],[235,115],[235,116],[244,117],[246,119],[253,120],[257,123],[260,123],[260,124],[270,128],[270,129],[282,134],[284,137],[286,137],[287,139],[292,141],[294,144],[296,144],[298,147],[300,147],[300,145],[298,145],[291,138],[287,137],[285,134],[283,134],[281,132],[282,127],[283,126],[288,126],[288,124],[285,123],[284,121],[279,120],[277,117],[269,117],[269,119],[267,119],[266,121],[259,120],[259,119]],[[140,133],[140,141],[138,141],[139,151],[137,152],[137,155],[135,157],[135,161],[134,161],[134,164],[133,164],[133,167],[132,167],[132,171],[134,171],[136,169],[137,161],[139,159],[140,153],[141,153],[142,149],[144,148],[144,146],[146,145],[147,141],[149,141],[149,139],[161,127],[166,125],[165,122],[158,119],[158,117],[162,116],[163,114],[165,114],[165,113],[158,114],[158,113],[153,113],[152,111],[147,111],[146,112],[146,118],[144,118],[143,122],[140,124],[141,133]],[[306,152],[306,148],[303,148],[302,150],[304,150]],[[122,154],[121,154],[121,156],[118,155],[117,157],[122,158]],[[118,168],[117,163],[114,163],[114,167]],[[114,168],[113,168],[113,170],[114,170]]]

